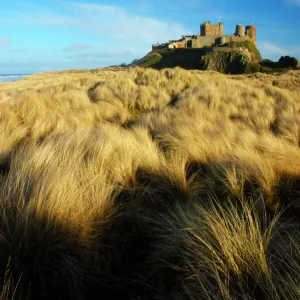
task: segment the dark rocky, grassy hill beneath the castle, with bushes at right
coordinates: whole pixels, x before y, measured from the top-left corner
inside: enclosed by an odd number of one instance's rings
[[[278,62],[263,60],[256,46],[250,41],[244,41],[212,48],[160,49],[135,60],[131,66],[157,70],[181,67],[186,70],[213,70],[225,74],[278,73],[297,69],[295,58],[286,56],[281,59]],[[293,60],[296,62],[294,65]]]

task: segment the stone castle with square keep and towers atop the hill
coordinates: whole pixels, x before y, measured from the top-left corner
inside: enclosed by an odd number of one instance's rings
[[[179,40],[169,40],[168,43],[154,44],[152,50],[167,48],[202,48],[213,45],[223,45],[228,42],[251,41],[256,45],[256,26],[236,25],[234,34],[224,34],[224,23],[211,24],[205,22],[200,24],[200,34],[184,35]]]

